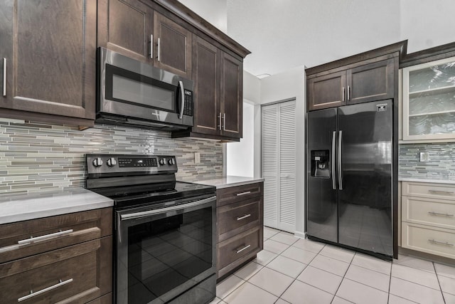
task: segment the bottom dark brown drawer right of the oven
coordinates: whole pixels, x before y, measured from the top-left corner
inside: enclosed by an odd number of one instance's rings
[[[259,228],[257,228],[218,243],[218,269],[257,253],[260,250],[260,237]]]

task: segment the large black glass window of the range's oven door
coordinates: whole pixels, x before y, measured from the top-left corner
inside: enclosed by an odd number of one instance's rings
[[[128,227],[128,303],[163,303],[213,272],[213,213],[210,206]]]

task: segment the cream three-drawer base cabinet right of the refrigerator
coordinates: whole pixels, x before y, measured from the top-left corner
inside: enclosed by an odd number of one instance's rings
[[[455,185],[402,182],[402,247],[455,258]]]

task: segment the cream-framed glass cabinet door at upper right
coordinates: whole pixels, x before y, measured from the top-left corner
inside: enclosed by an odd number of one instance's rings
[[[455,57],[403,68],[403,140],[455,141]]]

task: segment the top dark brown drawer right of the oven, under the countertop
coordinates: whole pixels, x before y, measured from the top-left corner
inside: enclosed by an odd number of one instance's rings
[[[218,189],[216,191],[217,206],[232,204],[236,201],[251,199],[262,195],[262,182],[243,186]]]

